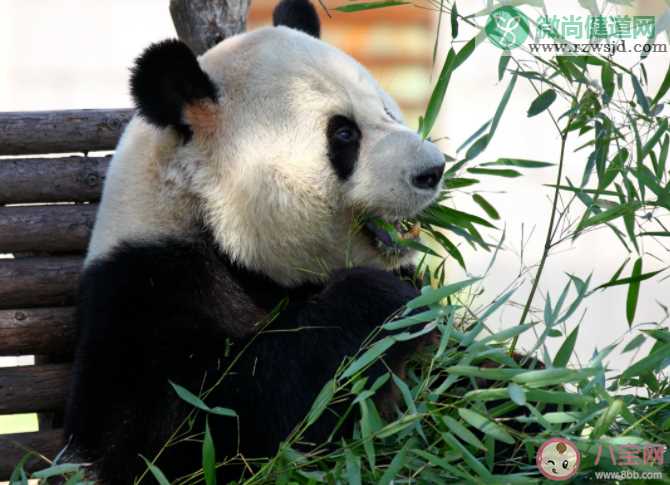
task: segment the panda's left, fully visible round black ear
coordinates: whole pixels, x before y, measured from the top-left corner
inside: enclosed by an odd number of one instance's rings
[[[191,135],[186,107],[217,100],[216,86],[191,49],[179,40],[152,44],[137,58],[130,92],[147,121],[161,128],[175,127],[186,138]]]

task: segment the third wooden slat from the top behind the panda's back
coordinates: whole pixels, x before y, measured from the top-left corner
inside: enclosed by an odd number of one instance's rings
[[[0,207],[0,253],[85,251],[97,210],[97,204]]]

